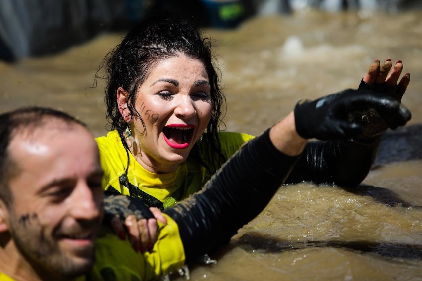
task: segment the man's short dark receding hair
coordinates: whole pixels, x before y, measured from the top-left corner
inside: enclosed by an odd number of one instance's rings
[[[10,142],[15,136],[20,138],[23,133],[33,133],[51,119],[76,123],[87,128],[84,123],[69,114],[45,107],[24,107],[0,114],[0,199],[7,206],[13,200],[9,181],[20,173],[9,152]]]

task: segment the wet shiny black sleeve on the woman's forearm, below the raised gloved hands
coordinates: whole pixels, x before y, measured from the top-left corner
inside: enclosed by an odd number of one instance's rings
[[[375,162],[381,138],[308,142],[286,183],[312,181],[356,187]]]

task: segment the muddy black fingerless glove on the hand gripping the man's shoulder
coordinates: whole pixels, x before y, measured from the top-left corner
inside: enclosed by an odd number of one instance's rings
[[[142,199],[105,191],[104,223],[109,223],[115,215],[118,215],[122,225],[124,225],[126,218],[132,214],[136,216],[137,221],[143,218],[154,218],[153,213]]]

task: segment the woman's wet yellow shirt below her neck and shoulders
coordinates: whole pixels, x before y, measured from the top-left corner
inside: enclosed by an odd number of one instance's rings
[[[229,159],[243,143],[254,136],[220,132],[221,152]],[[111,131],[107,136],[96,138],[101,166],[104,170],[103,189],[110,187],[124,195],[142,198],[147,205],[166,209],[176,202],[200,190],[211,178],[204,166],[197,159],[189,156],[173,173],[155,174],[145,170],[129,153],[127,180],[127,153],[117,131]],[[198,143],[199,153],[205,153],[208,147]],[[192,153],[191,153],[192,154]]]

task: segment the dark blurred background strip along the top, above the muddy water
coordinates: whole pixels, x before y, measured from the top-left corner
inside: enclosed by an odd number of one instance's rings
[[[191,17],[201,26],[233,28],[255,15],[288,15],[310,7],[330,12],[400,12],[421,6],[420,0],[1,0],[0,59],[60,51],[157,14]]]

